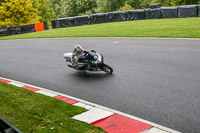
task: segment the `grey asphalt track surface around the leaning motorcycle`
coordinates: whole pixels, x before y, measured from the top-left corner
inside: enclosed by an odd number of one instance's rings
[[[113,67],[81,73],[76,44]],[[57,38],[0,41],[0,77],[48,88],[185,133],[200,133],[200,39]]]

